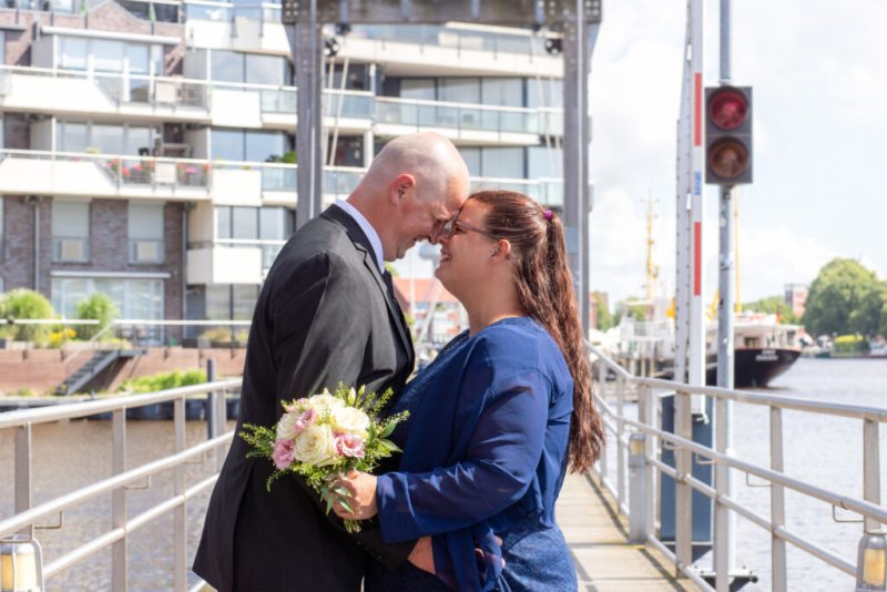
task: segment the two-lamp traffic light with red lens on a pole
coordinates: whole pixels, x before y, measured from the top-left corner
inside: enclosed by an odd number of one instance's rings
[[[705,89],[705,182],[752,182],[752,88]]]

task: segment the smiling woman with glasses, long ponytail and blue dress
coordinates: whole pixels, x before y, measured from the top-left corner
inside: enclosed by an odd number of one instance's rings
[[[598,459],[603,429],[563,225],[526,195],[482,191],[440,243],[436,276],[469,328],[399,399],[398,471],[349,473],[349,509],[335,507],[378,514],[388,542],[418,540],[410,563],[371,568],[365,590],[575,590],[554,502],[568,467]]]

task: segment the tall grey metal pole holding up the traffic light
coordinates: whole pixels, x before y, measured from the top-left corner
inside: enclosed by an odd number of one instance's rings
[[[730,82],[730,0],[721,0],[721,83]],[[734,384],[734,310],[736,289],[733,275],[733,200],[732,186],[720,192],[718,213],[718,308],[717,308],[717,386],[733,388]],[[722,455],[733,455],[733,401],[715,401],[715,448]],[[715,466],[715,490],[720,496],[733,497],[734,483],[730,468]],[[730,590],[730,570],[735,555],[735,517],[722,503],[714,509],[714,570],[715,588]]]

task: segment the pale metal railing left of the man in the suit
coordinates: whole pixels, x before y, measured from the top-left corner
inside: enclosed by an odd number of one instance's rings
[[[9,411],[0,414],[0,432],[14,430],[14,514],[0,520],[0,539],[16,533],[33,538],[34,528],[60,516],[72,508],[111,493],[112,528],[99,537],[53,559],[43,568],[45,579],[53,578],[90,555],[111,548],[111,590],[126,590],[129,561],[128,539],[147,525],[155,524],[161,517],[173,512],[172,548],[174,565],[174,589],[184,591],[187,586],[187,542],[185,529],[185,503],[195,496],[208,490],[215,483],[221,470],[226,446],[234,436],[233,431],[224,433],[225,428],[225,392],[237,390],[241,379],[211,381],[204,385],[175,388],[146,395],[114,397],[105,400],[93,400],[59,405],[54,407]],[[195,396],[207,397],[207,419],[210,430],[207,440],[198,445],[185,446],[185,401]],[[175,438],[174,453],[139,467],[126,467],[126,409],[172,401],[173,430]],[[111,477],[70,491],[37,506],[32,506],[33,446],[31,441],[33,426],[61,420],[86,418],[96,414],[111,414]],[[194,462],[206,462],[211,455],[215,456],[214,474],[196,483],[185,481],[185,466]],[[136,483],[147,480],[163,471],[173,471],[173,494],[160,503],[142,511],[137,516],[128,516],[126,492]],[[144,486],[141,486],[144,487]]]

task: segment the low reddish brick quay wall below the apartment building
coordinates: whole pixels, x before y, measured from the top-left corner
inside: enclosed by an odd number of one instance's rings
[[[69,353],[68,358],[73,354]],[[239,376],[246,350],[241,349],[184,349],[181,347],[151,348],[144,356],[126,359],[115,376],[109,377],[105,390],[115,390],[124,380],[139,376],[153,376],[172,370],[206,369],[206,360],[214,359],[217,376]],[[29,388],[44,394],[89,359],[88,354],[65,364],[61,349],[0,350],[0,392]]]

